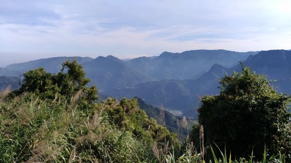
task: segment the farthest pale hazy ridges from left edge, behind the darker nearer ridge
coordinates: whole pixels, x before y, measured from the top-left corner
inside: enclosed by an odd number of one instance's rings
[[[55,57],[37,59],[8,65],[0,69],[0,75],[16,76],[26,71],[43,67],[50,73],[61,70],[65,60],[76,59],[83,65],[91,84],[100,90],[133,87],[136,84],[163,79],[197,78],[210,69],[214,63],[226,66],[235,65],[249,55],[258,52],[233,52],[227,50],[191,50],[182,53],[163,52],[160,56],[139,57],[122,60],[113,56],[82,58]]]

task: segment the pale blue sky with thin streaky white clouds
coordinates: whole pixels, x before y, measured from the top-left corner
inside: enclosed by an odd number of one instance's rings
[[[291,49],[291,0],[0,0],[0,67],[195,49]]]

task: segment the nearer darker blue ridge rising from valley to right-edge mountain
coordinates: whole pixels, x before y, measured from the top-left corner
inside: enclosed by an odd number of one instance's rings
[[[291,94],[291,51],[269,50],[251,55],[242,62],[257,74],[267,75],[274,88],[282,93]],[[161,80],[135,85],[132,88],[111,89],[102,92],[113,97],[143,98],[146,103],[163,105],[166,108],[180,110],[188,117],[196,116],[199,96],[219,93],[219,79],[225,74],[240,72],[242,67],[237,64],[227,68],[214,64],[210,70],[194,80]]]

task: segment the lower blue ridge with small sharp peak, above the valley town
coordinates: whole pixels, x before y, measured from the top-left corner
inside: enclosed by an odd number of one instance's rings
[[[195,80],[150,81],[132,88],[109,89],[102,93],[115,98],[138,96],[148,104],[162,105],[170,110],[190,113],[188,117],[195,117],[199,97],[219,93],[218,81],[226,72],[226,67],[214,64],[209,72]]]

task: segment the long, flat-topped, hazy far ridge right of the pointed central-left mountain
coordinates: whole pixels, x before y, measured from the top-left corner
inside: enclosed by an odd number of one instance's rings
[[[190,50],[182,53],[163,52],[156,58],[139,57],[129,60],[129,65],[146,72],[156,80],[189,79],[218,63],[234,66],[238,60],[245,60],[258,52],[234,52],[227,50]],[[191,74],[191,76],[189,76]]]

